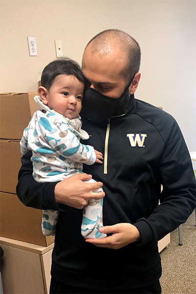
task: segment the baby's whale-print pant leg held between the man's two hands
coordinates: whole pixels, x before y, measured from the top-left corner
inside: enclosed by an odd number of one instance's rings
[[[84,181],[85,183],[95,183],[91,179]],[[101,192],[103,189],[98,188],[94,192]],[[83,208],[83,217],[81,225],[81,234],[85,239],[98,239],[107,237],[106,234],[101,234],[99,228],[103,226],[103,198],[89,200],[89,204]]]

